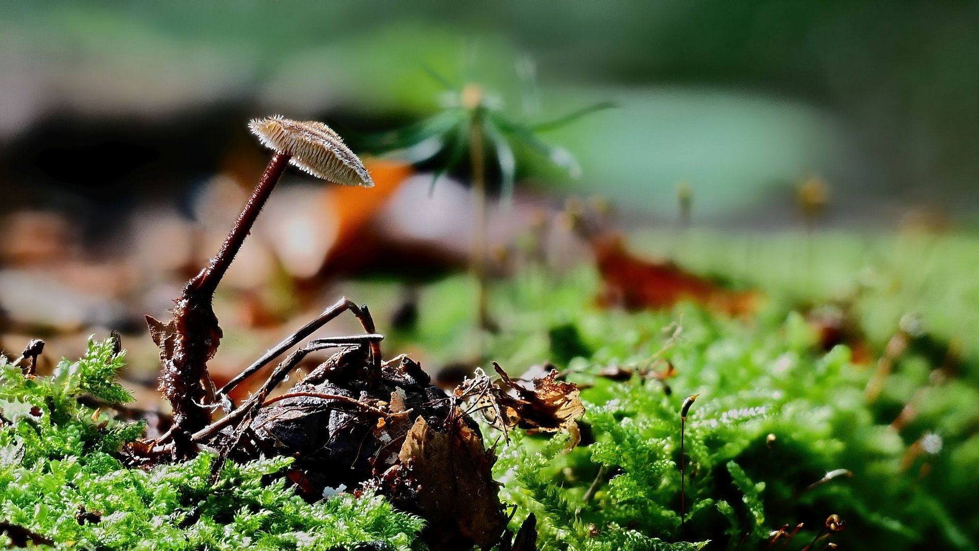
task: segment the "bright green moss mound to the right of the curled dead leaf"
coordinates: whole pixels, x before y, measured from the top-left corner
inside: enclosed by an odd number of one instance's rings
[[[538,335],[549,326],[573,327],[594,350],[569,365],[570,378],[587,386],[584,422],[594,442],[561,455],[559,443],[517,436],[502,446],[496,466],[505,500],[518,505],[514,526],[534,512],[542,548],[653,549],[661,544],[653,538],[756,548],[767,545],[770,530],[805,523],[787,547],[801,549],[832,514],[848,523],[833,535],[840,545],[973,548],[979,514],[966,496],[979,491],[979,480],[964,476],[964,465],[974,457],[968,426],[979,421],[971,405],[979,392],[967,380],[932,381],[927,374],[941,366],[909,351],[890,376],[890,399],[868,403],[863,387],[872,367],[853,365],[843,345],[818,350],[814,329],[791,303],[772,301],[748,320],[693,305],[658,314],[598,311],[588,304],[596,289],[583,286],[586,280],[555,280],[551,295],[534,300],[567,302],[524,313],[535,317],[527,331],[494,342],[494,359],[515,372],[523,366],[506,355],[546,358]],[[577,299],[568,298],[569,285],[580,289]],[[608,365],[642,368],[654,357],[676,367],[670,395],[657,380],[596,376]],[[681,530],[678,411],[694,393]],[[915,394],[921,402],[913,423],[894,429]],[[939,449],[913,456],[926,434]],[[599,468],[606,475],[585,502]],[[853,476],[806,489],[838,469]]]

